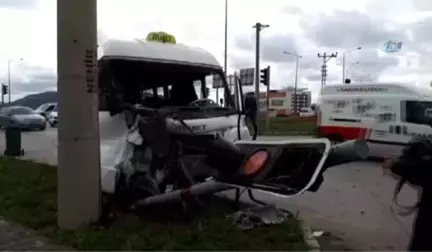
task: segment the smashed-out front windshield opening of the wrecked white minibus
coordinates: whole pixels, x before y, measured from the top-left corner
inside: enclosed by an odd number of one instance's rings
[[[220,79],[217,83],[220,87],[226,86],[226,82],[222,80],[223,72],[219,69],[174,63],[110,62],[112,74],[107,74],[105,82],[113,80],[120,103],[139,102],[154,108],[187,107],[193,101],[212,96],[210,89],[215,84],[212,83],[214,76],[218,76],[217,80]],[[101,76],[103,73],[101,72]],[[232,99],[229,102],[233,105]]]

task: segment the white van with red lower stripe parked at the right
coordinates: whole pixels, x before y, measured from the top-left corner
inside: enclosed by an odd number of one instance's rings
[[[432,98],[395,83],[326,86],[318,135],[332,142],[365,137],[371,156],[398,155],[413,136],[432,137]]]

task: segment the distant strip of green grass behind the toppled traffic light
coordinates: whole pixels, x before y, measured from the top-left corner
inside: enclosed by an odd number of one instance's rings
[[[266,120],[260,120],[258,122],[258,131],[260,133],[259,135],[314,135],[316,133],[316,120],[290,117],[273,117],[270,118],[268,125]]]

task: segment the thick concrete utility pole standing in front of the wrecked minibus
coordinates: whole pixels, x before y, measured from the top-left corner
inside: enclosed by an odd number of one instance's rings
[[[58,225],[100,216],[96,0],[57,1]]]

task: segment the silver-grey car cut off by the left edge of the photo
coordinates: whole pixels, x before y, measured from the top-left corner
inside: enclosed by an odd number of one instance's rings
[[[11,106],[0,109],[0,127],[45,130],[46,119],[29,107]]]

